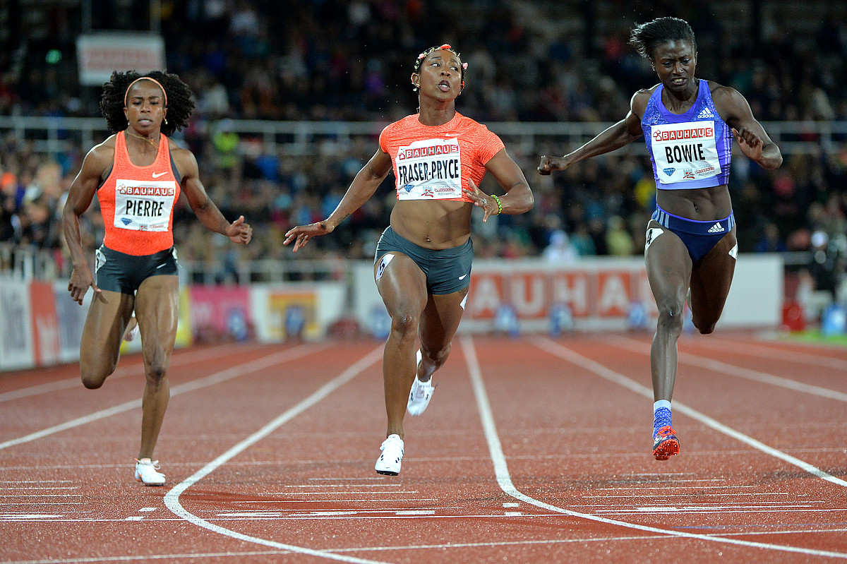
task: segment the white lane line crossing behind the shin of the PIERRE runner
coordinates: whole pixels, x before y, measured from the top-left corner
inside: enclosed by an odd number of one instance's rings
[[[258,370],[270,368],[282,362],[289,362],[296,358],[305,357],[307,355],[312,354],[313,352],[317,352],[323,348],[326,348],[327,346],[329,346],[329,344],[323,344],[318,346],[301,345],[296,346],[293,349],[288,349],[286,351],[274,352],[273,354],[270,354],[267,357],[258,358],[257,360],[251,362],[245,362],[244,364],[239,364],[232,368],[227,368],[226,370],[222,370],[221,372],[213,373],[209,376],[205,376],[203,378],[191,380],[191,382],[186,382],[185,384],[174,386],[170,389],[170,397],[173,398],[174,395],[185,394],[185,392],[199,390],[200,388],[205,388],[213,384],[220,384],[221,382],[238,378],[239,376],[243,376],[247,373],[257,372]],[[136,407],[141,407],[141,399],[127,401],[117,406],[109,407],[108,409],[102,409],[99,412],[90,413],[89,415],[86,415],[84,417],[77,417],[76,419],[71,419],[70,421],[66,421],[65,423],[59,423],[58,425],[54,425],[53,427],[48,427],[47,429],[42,429],[40,431],[36,431],[35,433],[26,434],[23,437],[19,437],[17,439],[7,440],[3,443],[0,443],[0,450],[6,449],[9,446],[22,445],[33,440],[43,439],[48,435],[59,433],[61,431],[66,431],[68,429],[74,429],[75,427],[80,427],[80,425],[85,425],[87,423],[91,423],[92,421],[97,421],[97,419],[102,419],[103,417],[111,417],[118,413],[128,412],[130,411],[130,409],[135,409]]]

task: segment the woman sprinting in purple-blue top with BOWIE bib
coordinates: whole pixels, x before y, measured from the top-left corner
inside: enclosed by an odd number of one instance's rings
[[[644,136],[657,188],[645,245],[647,278],[659,310],[650,348],[653,455],[667,460],[679,452],[671,396],[686,295],[695,327],[711,333],[735,270],[738,244],[728,189],[733,141],[764,169],[777,169],[783,157],[745,97],[695,78],[697,43],[683,19],[637,25],[629,44],[650,61],[659,84],[635,92],[627,116],[576,151],[542,157],[538,170],[564,170]]]

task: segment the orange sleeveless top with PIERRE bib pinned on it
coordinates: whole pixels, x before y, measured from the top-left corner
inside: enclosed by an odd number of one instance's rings
[[[106,229],[103,245],[128,255],[152,255],[174,246],[180,183],[171,167],[168,137],[161,135],[156,160],[139,167],[126,152],[125,135],[115,135],[112,172],[97,189]]]

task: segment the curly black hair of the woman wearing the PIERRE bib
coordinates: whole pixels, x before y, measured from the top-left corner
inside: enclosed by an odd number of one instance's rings
[[[103,83],[103,93],[100,98],[100,113],[106,118],[108,129],[117,133],[125,130],[129,125],[124,114],[126,89],[133,81],[145,76],[162,85],[165,97],[168,98],[168,121],[162,123],[162,133],[171,135],[174,131],[186,127],[194,111],[193,92],[179,76],[164,73],[161,70],[152,70],[146,75],[140,75],[135,70],[126,72],[115,70],[112,78]]]

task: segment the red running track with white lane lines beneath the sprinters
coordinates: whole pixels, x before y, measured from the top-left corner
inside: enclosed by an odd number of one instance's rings
[[[400,476],[382,344],[177,351],[133,480],[140,358],[0,375],[0,561],[847,559],[847,350],[685,336],[679,456],[650,455],[650,335],[457,338]]]

